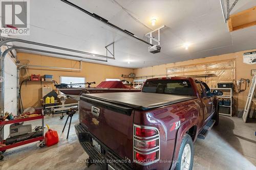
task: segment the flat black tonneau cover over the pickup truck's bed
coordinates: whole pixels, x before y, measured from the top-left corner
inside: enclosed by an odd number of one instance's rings
[[[147,92],[114,92],[82,94],[81,99],[82,98],[109,102],[121,106],[131,107],[137,110],[148,110],[191,99],[196,99],[197,97],[190,95],[175,95]]]

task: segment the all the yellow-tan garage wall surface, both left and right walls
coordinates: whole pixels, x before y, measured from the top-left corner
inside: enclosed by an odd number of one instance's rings
[[[254,51],[254,50],[250,50]],[[244,79],[252,79],[250,76],[250,70],[256,69],[256,65],[252,64],[245,64],[243,63],[243,52],[237,53],[230,53],[224,54],[219,56],[212,56],[206,58],[200,58],[195,60],[187,60],[182,62],[176,63],[168,63],[162,65],[156,65],[151,67],[145,68],[138,68],[138,69],[129,69],[129,68],[122,68],[122,67],[115,67],[115,66],[108,66],[102,64],[94,64],[88,62],[82,62],[82,71],[69,71],[69,70],[56,70],[56,69],[42,69],[42,68],[29,68],[28,73],[31,74],[40,74],[40,75],[53,75],[54,80],[58,83],[60,81],[60,76],[71,76],[71,77],[85,77],[87,82],[96,82],[96,85],[100,82],[104,81],[106,78],[110,79],[123,79],[121,78],[121,74],[128,75],[131,72],[135,72],[136,77],[139,76],[151,76],[151,75],[166,75],[166,68],[170,67],[177,67],[177,66],[184,66],[190,64],[200,64],[200,63],[207,63],[207,62],[216,62],[228,59],[236,59],[236,79],[240,80],[240,78]],[[57,66],[57,67],[69,67],[69,68],[79,68],[79,62],[74,60],[67,60],[67,59],[60,59],[54,57],[47,57],[41,55],[33,55],[33,54],[26,54],[26,53],[17,53],[17,57],[22,63],[26,63],[29,60],[30,64],[32,65],[47,65],[47,66]],[[24,69],[20,72],[20,81],[27,78],[26,72]],[[150,77],[148,77],[150,78]],[[132,80],[129,80],[132,81]],[[47,83],[49,86],[53,87],[53,84]],[[47,86],[43,84],[42,86]],[[236,110],[244,109],[245,102],[247,99],[249,88],[247,90],[238,94],[235,94],[235,101],[236,101]],[[42,98],[41,96],[41,85],[40,83],[33,83],[29,82],[27,85],[23,85],[22,87],[22,99],[24,107],[35,107],[39,106],[39,100]]]

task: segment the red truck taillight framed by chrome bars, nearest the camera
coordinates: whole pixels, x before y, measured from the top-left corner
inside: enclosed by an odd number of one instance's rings
[[[159,160],[160,139],[156,127],[134,125],[133,145],[136,163],[149,165]]]

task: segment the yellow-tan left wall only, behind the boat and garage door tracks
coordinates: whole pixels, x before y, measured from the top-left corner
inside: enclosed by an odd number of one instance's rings
[[[68,59],[47,57],[41,55],[33,55],[27,53],[17,53],[17,58],[21,63],[27,63],[29,60],[31,65],[46,65],[46,66],[56,66],[56,67],[66,67],[66,68],[79,68],[79,62]],[[105,81],[106,78],[109,79],[120,79],[121,75],[129,75],[133,72],[133,69],[115,67],[102,64],[94,64],[88,62],[82,62],[82,71],[75,70],[58,70],[58,69],[49,69],[49,68],[28,68],[28,74],[35,75],[53,75],[53,79],[60,83],[60,76],[68,77],[84,77],[87,82],[96,82],[98,85],[100,82]],[[25,69],[20,70],[20,82],[24,79],[27,79],[27,74]],[[129,80],[128,81],[133,81]],[[42,86],[47,85],[53,87],[53,83],[42,83]],[[96,86],[91,85],[91,86]],[[41,84],[38,82],[28,82],[27,85],[24,83],[22,86],[22,100],[24,108],[27,107],[37,107],[40,105],[40,100],[42,98],[41,94]]]

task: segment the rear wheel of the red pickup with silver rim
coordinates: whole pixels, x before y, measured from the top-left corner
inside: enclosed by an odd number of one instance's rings
[[[193,168],[194,161],[194,146],[191,137],[185,134],[182,138],[180,145],[180,152],[178,156],[178,162],[176,165],[177,170],[191,170]]]

